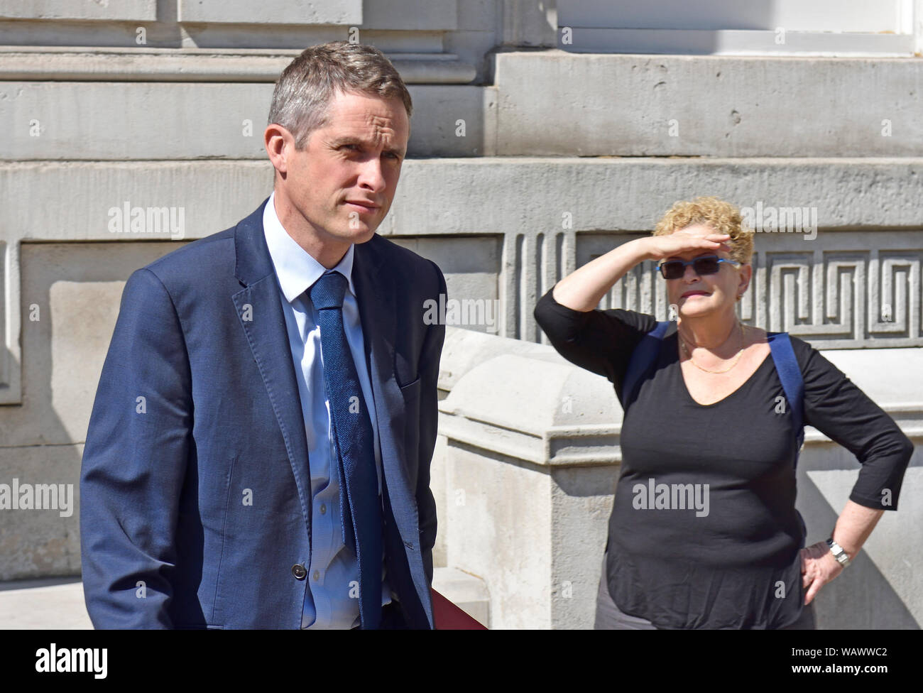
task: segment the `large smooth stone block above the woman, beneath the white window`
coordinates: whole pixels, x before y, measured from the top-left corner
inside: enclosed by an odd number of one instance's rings
[[[912,57],[495,57],[500,155],[923,155]]]

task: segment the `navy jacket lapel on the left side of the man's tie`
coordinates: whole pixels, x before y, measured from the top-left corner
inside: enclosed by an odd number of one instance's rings
[[[282,430],[310,542],[311,477],[305,421],[295,381],[288,330],[282,315],[279,281],[263,235],[265,207],[266,201],[234,229],[234,275],[244,288],[231,298],[272,402],[272,411]]]

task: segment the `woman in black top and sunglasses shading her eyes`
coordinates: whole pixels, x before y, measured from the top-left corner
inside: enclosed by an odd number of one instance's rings
[[[595,306],[639,262],[682,261],[662,270],[677,322],[622,423],[596,627],[801,627],[812,617],[804,605],[855,558],[882,512],[897,509],[913,444],[820,352],[791,337],[804,423],[862,463],[834,544],[803,548],[785,392],[765,330],[735,313],[752,247],[732,205],[677,202],[653,236],[593,259],[535,306],[557,352],[606,376],[624,403],[629,357],[656,321]]]

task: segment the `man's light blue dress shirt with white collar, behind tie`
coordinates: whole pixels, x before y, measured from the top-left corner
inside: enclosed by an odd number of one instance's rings
[[[330,432],[330,402],[324,388],[318,311],[305,292],[327,271],[304,248],[295,243],[279,221],[275,193],[263,210],[263,233],[279,279],[280,300],[292,350],[295,379],[305,419],[308,467],[311,471],[311,559],[307,569],[303,628],[351,628],[360,624],[359,566],[352,547],[343,544],[340,483],[333,460]],[[375,400],[366,366],[359,305],[353,285],[354,246],[333,268],[349,281],[343,297],[343,329],[353,354],[363,398],[366,400],[375,434],[375,462],[378,469],[378,497],[381,497],[381,448]],[[382,543],[382,545],[384,545]],[[381,565],[381,603],[391,602],[384,556]]]

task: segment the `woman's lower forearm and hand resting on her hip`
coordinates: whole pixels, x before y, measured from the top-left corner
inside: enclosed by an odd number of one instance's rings
[[[866,508],[852,500],[846,501],[843,513],[836,520],[836,527],[833,529],[833,541],[843,547],[850,561],[856,559],[859,549],[865,544],[883,514],[884,510]],[[826,542],[818,542],[802,549],[801,582],[806,590],[805,605],[811,603],[821,587],[841,572],[843,566],[833,557]]]

